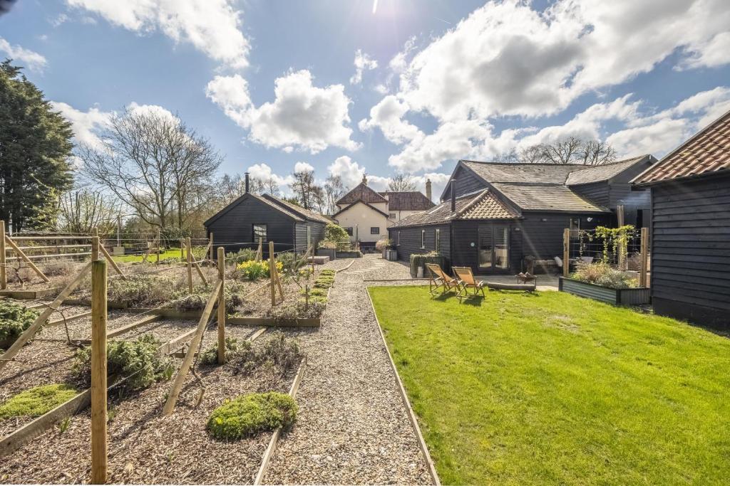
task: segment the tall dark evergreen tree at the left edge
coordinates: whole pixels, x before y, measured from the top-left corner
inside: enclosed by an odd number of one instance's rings
[[[0,63],[0,219],[13,230],[55,223],[73,176],[71,123],[11,60]]]

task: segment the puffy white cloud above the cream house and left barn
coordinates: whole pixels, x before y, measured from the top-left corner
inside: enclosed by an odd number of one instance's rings
[[[274,101],[255,107],[242,77],[217,76],[206,95],[249,130],[249,138],[268,147],[306,150],[316,154],[328,146],[356,150],[350,139],[350,98],[342,85],[315,87],[310,71],[292,71],[274,82]]]

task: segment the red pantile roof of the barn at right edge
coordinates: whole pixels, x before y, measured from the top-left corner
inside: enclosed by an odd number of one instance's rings
[[[730,170],[730,111],[639,174],[635,184]]]

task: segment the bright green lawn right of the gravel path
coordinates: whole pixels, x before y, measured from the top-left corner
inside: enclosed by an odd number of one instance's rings
[[[444,484],[727,484],[728,338],[554,291],[369,292]]]

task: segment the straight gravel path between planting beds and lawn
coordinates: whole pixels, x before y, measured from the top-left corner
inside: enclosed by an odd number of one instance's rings
[[[367,256],[337,275],[322,326],[299,335],[307,354],[300,414],[279,442],[267,484],[431,483],[363,281],[404,272]]]

